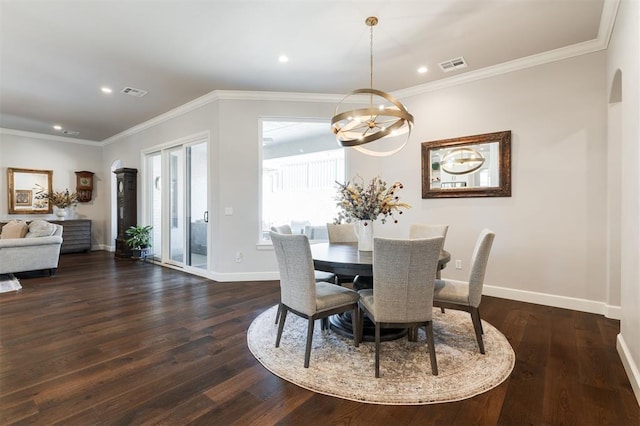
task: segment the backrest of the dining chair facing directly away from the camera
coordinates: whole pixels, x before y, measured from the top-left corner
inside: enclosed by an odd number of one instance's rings
[[[443,237],[373,239],[373,313],[379,322],[430,321]]]

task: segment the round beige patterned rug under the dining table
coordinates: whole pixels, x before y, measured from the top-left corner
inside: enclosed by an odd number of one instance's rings
[[[275,347],[277,306],[249,326],[249,350],[273,374],[314,392],[352,401],[387,405],[422,405],[459,401],[502,383],[515,363],[507,338],[486,321],[485,355],[480,354],[471,317],[466,312],[433,311],[433,331],[439,375],[431,374],[424,330],[417,342],[407,338],[382,342],[380,378],[374,377],[375,347],[316,324],[311,362],[304,368],[307,321],[287,315],[280,347]]]

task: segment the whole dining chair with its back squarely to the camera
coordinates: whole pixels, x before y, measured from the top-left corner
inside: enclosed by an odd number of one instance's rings
[[[431,373],[438,375],[433,340],[433,286],[443,237],[373,239],[373,289],[360,290],[358,340],[366,314],[375,326],[375,376],[380,377],[380,328],[425,327]]]

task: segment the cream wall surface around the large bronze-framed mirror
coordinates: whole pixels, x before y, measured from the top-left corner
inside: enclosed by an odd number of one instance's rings
[[[405,99],[416,120],[410,144],[351,163],[362,176],[405,184],[402,199],[413,208],[377,233],[449,224],[445,246],[464,267],[443,275],[466,279],[475,238],[491,228],[485,282],[497,288],[488,293],[604,313],[605,94],[601,52]],[[421,142],[503,130],[512,132],[512,197],[421,199]]]

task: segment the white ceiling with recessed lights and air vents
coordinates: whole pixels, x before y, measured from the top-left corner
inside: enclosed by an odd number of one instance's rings
[[[380,20],[374,87],[394,92],[602,45],[601,17],[610,24],[615,8],[617,0],[0,0],[0,127],[64,136],[57,124],[103,141],[214,90],[368,87],[371,15]],[[439,68],[460,56],[466,68]]]

